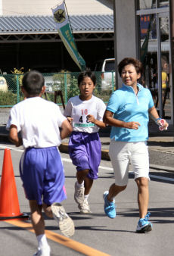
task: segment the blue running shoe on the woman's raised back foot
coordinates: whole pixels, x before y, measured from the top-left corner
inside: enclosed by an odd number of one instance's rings
[[[115,200],[108,201],[107,195],[109,194],[108,191],[104,192],[103,198],[104,198],[104,212],[107,214],[107,217],[110,217],[111,219],[114,219],[116,217],[116,206],[115,206]]]

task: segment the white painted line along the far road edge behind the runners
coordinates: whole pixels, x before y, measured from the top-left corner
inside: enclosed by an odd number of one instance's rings
[[[13,148],[13,147],[9,147],[9,146],[5,146],[5,145],[0,145],[0,148],[9,148],[9,149],[11,149],[11,150],[14,150],[14,151],[20,151],[20,152],[23,152],[24,150],[23,149],[18,149],[18,148]],[[70,159],[68,159],[68,158],[61,158],[62,159],[62,161],[64,161],[64,162],[68,162],[68,163],[72,163],[72,161],[70,160]],[[103,169],[103,170],[111,170],[111,171],[113,171],[113,168],[110,168],[110,167],[104,167],[104,166],[99,166],[99,168],[100,169]],[[133,172],[129,172],[129,173],[131,173],[131,174],[133,174]],[[150,178],[154,178],[154,179],[158,179],[158,180],[166,180],[166,181],[172,181],[172,182],[174,182],[174,179],[172,179],[172,178],[169,178],[169,177],[163,177],[163,176],[157,176],[157,175],[149,175],[150,176]]]

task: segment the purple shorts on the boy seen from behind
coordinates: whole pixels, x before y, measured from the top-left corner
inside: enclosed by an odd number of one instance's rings
[[[42,201],[50,205],[67,198],[64,167],[57,147],[27,148],[20,159],[20,177],[26,198],[39,205]]]

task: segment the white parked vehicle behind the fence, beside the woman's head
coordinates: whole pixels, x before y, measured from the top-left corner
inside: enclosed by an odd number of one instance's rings
[[[95,65],[95,71],[101,71],[101,89],[111,89],[115,83],[115,59],[107,58],[98,61]]]

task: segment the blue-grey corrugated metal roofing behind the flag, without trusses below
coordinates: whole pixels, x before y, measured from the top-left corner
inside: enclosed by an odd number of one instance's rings
[[[79,15],[70,17],[73,33],[113,33],[113,15]],[[52,16],[2,16],[0,35],[57,33]]]

